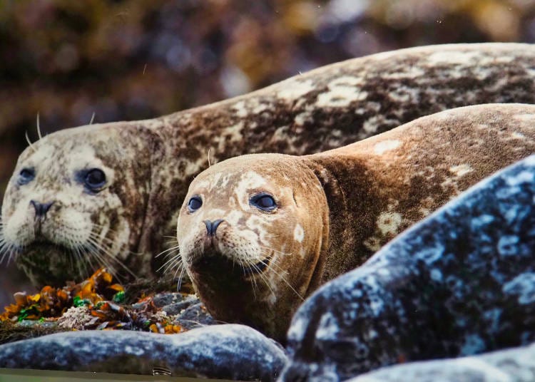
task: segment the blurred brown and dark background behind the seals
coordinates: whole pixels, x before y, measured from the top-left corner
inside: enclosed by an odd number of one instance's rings
[[[535,41],[535,0],[0,0],[0,200],[24,133],[212,103],[347,58]],[[34,289],[0,264],[0,310]]]

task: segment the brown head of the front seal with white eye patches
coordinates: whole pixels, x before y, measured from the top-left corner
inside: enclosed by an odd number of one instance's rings
[[[195,290],[223,321],[280,331],[310,284],[328,234],[314,173],[287,155],[227,160],[193,180],[180,211],[180,254]],[[213,169],[213,170],[212,170]],[[212,303],[213,302],[213,303]],[[263,306],[260,309],[260,306]]]

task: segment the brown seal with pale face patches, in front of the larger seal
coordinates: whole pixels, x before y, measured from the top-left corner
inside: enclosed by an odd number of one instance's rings
[[[492,172],[535,153],[535,105],[447,110],[324,153],[244,155],[193,180],[177,239],[215,319],[283,341],[320,284]]]

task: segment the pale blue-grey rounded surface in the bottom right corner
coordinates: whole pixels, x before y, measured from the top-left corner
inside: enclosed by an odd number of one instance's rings
[[[480,356],[390,366],[347,382],[531,382],[535,381],[535,344]]]

